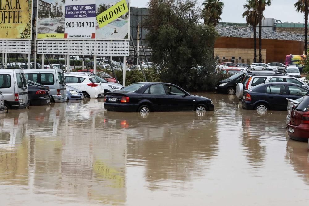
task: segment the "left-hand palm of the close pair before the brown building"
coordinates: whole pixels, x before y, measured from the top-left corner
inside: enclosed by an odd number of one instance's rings
[[[243,18],[246,18],[246,22],[253,27],[254,63],[256,63],[256,27],[259,23],[259,13],[253,5],[253,0],[247,0],[247,4],[243,5],[243,8],[246,9],[246,11],[243,12]]]

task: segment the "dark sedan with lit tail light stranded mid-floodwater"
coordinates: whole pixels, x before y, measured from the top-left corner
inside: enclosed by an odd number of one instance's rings
[[[211,99],[190,95],[168,83],[134,83],[117,92],[108,92],[104,108],[108,111],[213,111]]]

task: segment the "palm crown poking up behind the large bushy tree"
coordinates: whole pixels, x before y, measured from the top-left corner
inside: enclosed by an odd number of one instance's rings
[[[202,5],[204,6],[204,23],[216,26],[221,20],[224,3],[221,0],[205,0]]]

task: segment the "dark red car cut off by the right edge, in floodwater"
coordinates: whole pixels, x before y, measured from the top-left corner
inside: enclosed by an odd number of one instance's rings
[[[287,126],[291,139],[307,142],[309,139],[309,95],[298,103],[291,112],[291,121]]]

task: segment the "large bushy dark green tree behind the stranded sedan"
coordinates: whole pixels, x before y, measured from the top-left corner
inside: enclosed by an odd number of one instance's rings
[[[213,25],[201,24],[196,0],[150,0],[144,25],[152,61],[160,66],[161,80],[187,90],[207,90],[214,72],[217,33]],[[209,86],[213,88],[213,85]]]

